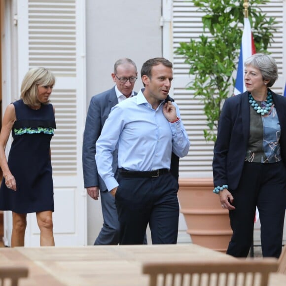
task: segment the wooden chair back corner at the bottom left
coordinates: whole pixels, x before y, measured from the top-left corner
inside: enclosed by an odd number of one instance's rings
[[[0,285],[17,286],[20,278],[28,277],[28,268],[25,266],[1,266],[0,267]],[[10,280],[10,284],[4,284],[4,281]]]

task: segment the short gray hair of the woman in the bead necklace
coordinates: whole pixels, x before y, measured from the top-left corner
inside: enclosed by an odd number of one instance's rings
[[[278,68],[275,60],[262,53],[257,53],[246,59],[244,66],[252,66],[262,74],[263,80],[269,80],[267,87],[271,87],[278,78]]]

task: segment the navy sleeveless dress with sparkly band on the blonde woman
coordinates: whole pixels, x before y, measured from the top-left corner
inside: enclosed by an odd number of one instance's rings
[[[8,166],[17,190],[0,187],[0,210],[18,214],[54,211],[50,141],[56,128],[51,104],[34,110],[23,100],[13,103],[16,121]]]

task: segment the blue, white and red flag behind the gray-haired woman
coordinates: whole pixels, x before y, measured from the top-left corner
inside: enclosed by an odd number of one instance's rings
[[[244,18],[244,30],[240,46],[240,54],[237,68],[237,75],[234,87],[234,95],[238,95],[246,91],[244,84],[244,62],[247,58],[255,54],[254,40],[251,33],[249,18]]]

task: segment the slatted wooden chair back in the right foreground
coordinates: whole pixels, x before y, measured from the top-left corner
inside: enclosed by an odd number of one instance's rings
[[[269,273],[277,269],[276,258],[143,264],[149,286],[267,286]]]

